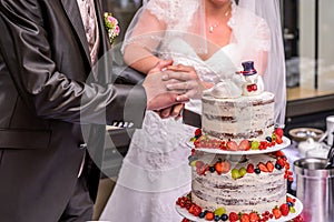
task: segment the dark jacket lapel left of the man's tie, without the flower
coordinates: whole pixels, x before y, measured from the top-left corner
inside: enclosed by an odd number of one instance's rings
[[[77,0],[61,0],[61,3],[67,13],[67,17],[69,18],[70,22],[72,23],[73,29],[76,30],[76,32],[80,39],[81,46],[82,46],[82,48],[85,50],[85,54],[87,57],[87,60],[89,61],[89,64],[91,65],[88,42],[86,39],[85,28],[84,28],[84,23],[81,20],[79,7],[77,4]]]

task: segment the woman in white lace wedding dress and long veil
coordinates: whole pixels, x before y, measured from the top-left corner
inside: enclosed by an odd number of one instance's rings
[[[276,127],[284,127],[285,65],[278,0],[239,0],[238,4],[234,0],[150,0],[128,28],[122,53],[125,61],[143,73],[159,60],[171,59],[174,64],[166,72],[196,72],[203,89],[230,78],[242,70],[243,61],[252,60],[264,77],[266,90],[275,93]],[[191,189],[187,141],[195,129],[179,117],[164,118],[181,109],[200,113],[199,97],[185,107],[146,112],[100,220],[181,221],[175,202]]]

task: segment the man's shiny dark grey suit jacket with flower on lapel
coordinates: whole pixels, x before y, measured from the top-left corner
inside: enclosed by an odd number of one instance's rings
[[[101,57],[109,44],[98,1],[96,9]],[[106,121],[139,127],[145,91],[108,84],[109,61],[89,75],[77,0],[0,0],[0,221],[56,222],[86,148],[101,160]],[[99,179],[95,167],[85,168],[92,199]]]

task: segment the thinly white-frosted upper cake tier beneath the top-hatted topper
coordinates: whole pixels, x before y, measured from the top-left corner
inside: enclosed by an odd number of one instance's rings
[[[223,140],[265,140],[274,131],[274,94],[235,99],[204,95],[202,125],[205,133]]]

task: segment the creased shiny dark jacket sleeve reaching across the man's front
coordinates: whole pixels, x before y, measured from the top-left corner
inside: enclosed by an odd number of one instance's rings
[[[43,119],[97,124],[121,120],[140,127],[146,110],[141,85],[85,83],[57,70],[38,2],[0,0],[0,30],[6,30],[0,52],[29,109]]]

